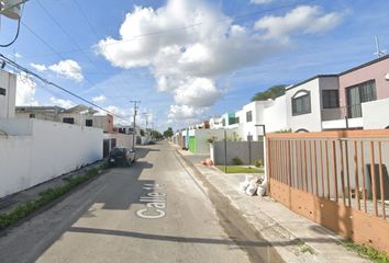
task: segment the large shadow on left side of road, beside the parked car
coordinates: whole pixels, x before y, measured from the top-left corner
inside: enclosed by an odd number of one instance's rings
[[[45,224],[41,224],[40,219],[31,218],[18,226],[23,229],[23,232],[18,233],[14,240],[10,240],[11,250],[0,248],[0,262],[36,262],[80,218],[98,217],[97,210],[100,208],[95,208],[95,204],[102,204],[101,209],[115,210],[127,210],[133,204],[138,204],[140,196],[147,192],[143,190],[144,184],[155,183],[154,180],[140,179],[144,171],[152,168],[153,163],[140,160],[129,168],[105,170],[96,180],[42,211],[42,216],[47,217]],[[14,235],[13,232],[12,228],[5,230],[3,238]],[[25,245],[21,245],[23,243]]]

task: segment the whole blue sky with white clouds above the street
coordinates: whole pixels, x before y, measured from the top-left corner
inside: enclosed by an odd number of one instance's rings
[[[274,84],[371,60],[375,35],[389,49],[386,0],[112,2],[30,0],[16,43],[0,53],[125,117],[130,100],[141,100],[163,130],[237,110]],[[15,25],[2,19],[1,44]],[[19,104],[80,103],[32,81],[22,81]]]

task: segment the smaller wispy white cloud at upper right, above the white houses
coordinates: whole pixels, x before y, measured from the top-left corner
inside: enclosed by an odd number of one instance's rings
[[[323,14],[319,7],[300,5],[285,16],[265,16],[255,23],[256,30],[265,31],[266,38],[290,41],[294,33],[316,34],[335,27],[342,19],[341,13]]]

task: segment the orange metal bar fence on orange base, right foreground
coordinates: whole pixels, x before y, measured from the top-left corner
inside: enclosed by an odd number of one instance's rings
[[[273,197],[389,252],[389,130],[270,134],[267,158]]]

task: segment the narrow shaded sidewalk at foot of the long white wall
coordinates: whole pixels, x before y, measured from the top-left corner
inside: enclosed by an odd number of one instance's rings
[[[84,167],[81,169],[78,169],[76,171],[63,174],[58,178],[54,178],[49,181],[46,181],[46,182],[41,183],[38,185],[35,185],[31,188],[27,188],[27,190],[14,193],[12,195],[2,197],[2,198],[0,198],[0,214],[5,214],[5,213],[12,210],[18,205],[24,204],[27,201],[36,199],[40,197],[40,193],[42,193],[48,188],[53,188],[55,186],[63,185],[66,179],[84,174],[88,170],[91,170],[93,168],[99,168],[103,162],[104,162],[104,160],[97,161],[95,163],[91,163],[91,164]]]

